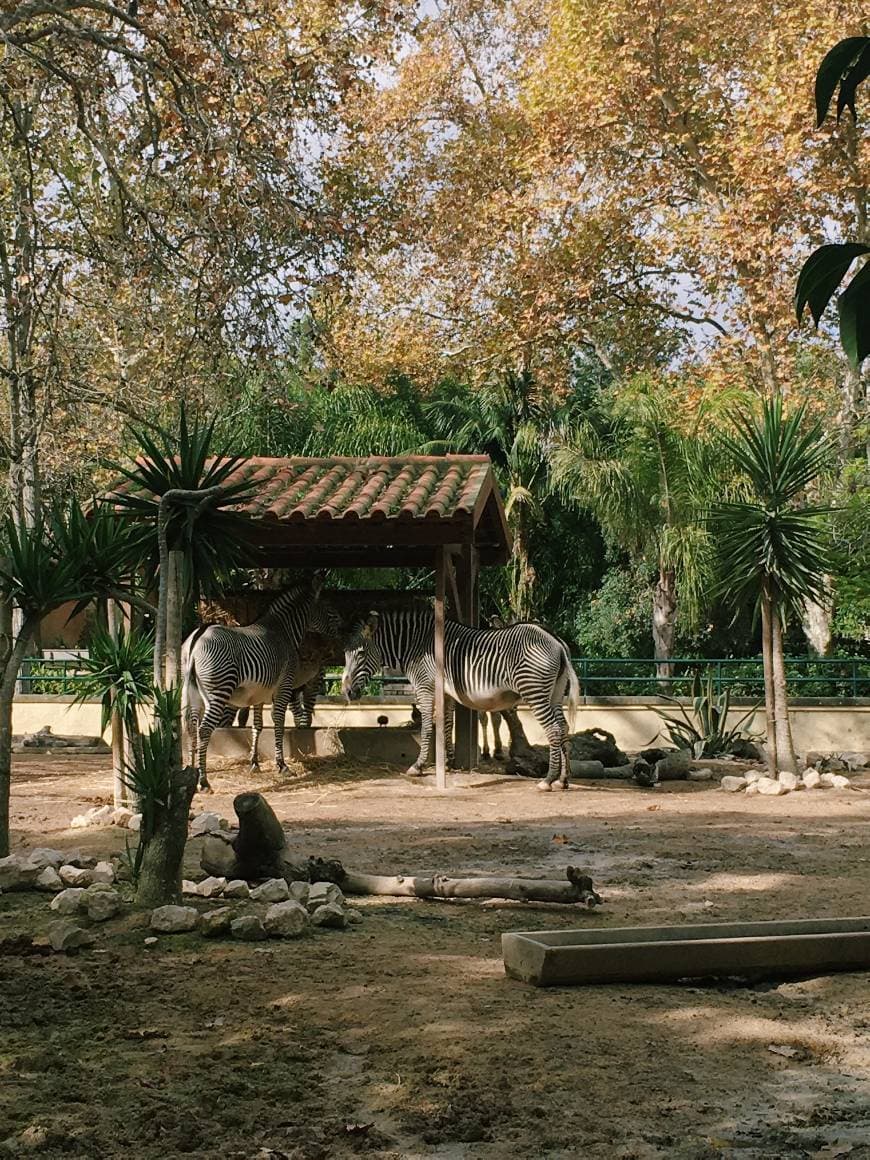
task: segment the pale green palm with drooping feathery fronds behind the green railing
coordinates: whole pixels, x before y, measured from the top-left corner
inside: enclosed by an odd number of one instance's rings
[[[677,422],[676,399],[650,376],[614,385],[597,406],[564,428],[552,451],[553,481],[589,510],[604,536],[635,563],[655,570],[652,636],[657,675],[673,675],[680,604],[699,608],[713,552],[704,527],[705,496],[715,486],[702,407],[690,427]]]

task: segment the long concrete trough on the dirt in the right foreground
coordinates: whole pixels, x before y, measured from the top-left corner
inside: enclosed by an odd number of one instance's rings
[[[536,987],[786,977],[870,969],[870,916],[501,936],[505,971]]]

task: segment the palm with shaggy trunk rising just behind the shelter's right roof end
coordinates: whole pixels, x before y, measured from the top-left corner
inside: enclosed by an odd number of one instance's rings
[[[428,451],[488,455],[505,492],[514,538],[508,603],[514,619],[536,611],[532,528],[544,520],[551,494],[548,449],[563,405],[545,396],[528,371],[507,371],[472,390],[450,384],[423,405],[435,441]]]

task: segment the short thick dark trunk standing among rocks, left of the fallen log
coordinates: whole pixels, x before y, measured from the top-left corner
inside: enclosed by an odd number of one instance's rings
[[[169,775],[168,800],[154,804],[148,832],[140,834],[145,848],[136,890],[139,906],[165,906],[181,900],[181,863],[197,776],[193,767]]]

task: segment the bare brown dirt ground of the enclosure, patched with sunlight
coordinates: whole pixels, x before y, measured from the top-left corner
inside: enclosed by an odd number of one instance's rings
[[[259,789],[300,855],[380,872],[572,863],[604,905],[370,899],[347,931],[153,948],[131,912],[78,956],[2,956],[7,1153],[870,1158],[870,973],[537,989],[500,951],[510,929],[868,914],[870,776],[783,798],[514,778],[438,795],[336,761],[253,784],[215,766],[195,810],[233,817],[233,795]],[[27,754],[14,776],[16,848],[123,849],[124,831],[66,828],[108,799],[106,759]],[[45,896],[0,897],[5,936],[48,915]]]

